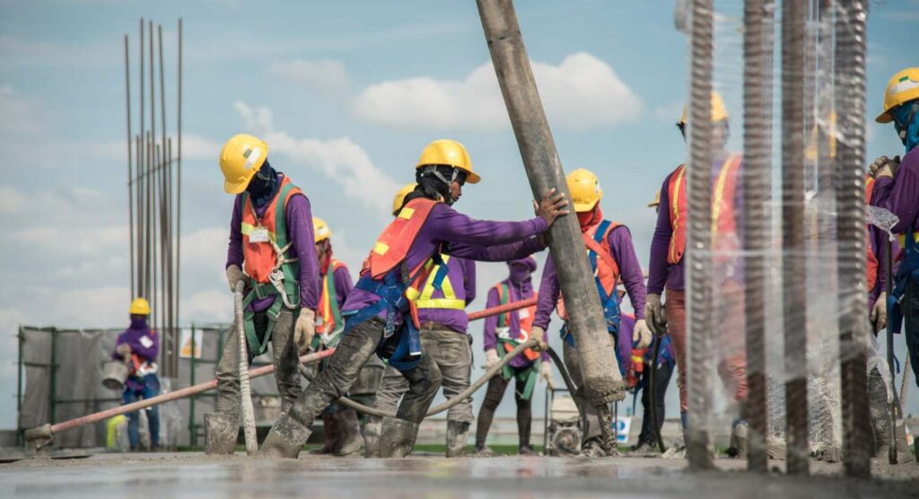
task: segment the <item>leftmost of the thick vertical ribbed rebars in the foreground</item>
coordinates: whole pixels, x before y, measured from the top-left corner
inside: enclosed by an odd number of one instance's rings
[[[689,335],[689,425],[686,453],[689,467],[714,467],[707,418],[711,391],[711,91],[712,0],[692,2],[691,97],[689,113],[689,230],[686,232],[686,329]]]

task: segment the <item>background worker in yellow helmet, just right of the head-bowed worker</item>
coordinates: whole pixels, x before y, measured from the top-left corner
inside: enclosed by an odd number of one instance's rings
[[[332,255],[332,231],[328,224],[323,219],[312,217],[312,233],[319,257],[319,277],[323,282],[316,315],[316,335],[312,337],[311,345],[313,350],[319,351],[335,348],[341,340],[341,332],[345,329],[341,307],[354,284],[345,263]],[[322,364],[319,369],[323,369]],[[360,428],[354,409],[330,403],[323,410],[323,433],[323,448],[316,451],[317,454],[347,456],[360,449]]]

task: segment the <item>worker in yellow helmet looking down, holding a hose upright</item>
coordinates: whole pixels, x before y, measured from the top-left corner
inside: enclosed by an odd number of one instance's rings
[[[249,361],[271,342],[281,410],[288,411],[301,393],[298,350],[305,350],[315,333],[319,263],[311,244],[310,200],[271,167],[267,153],[267,143],[246,134],[234,135],[221,149],[223,189],[235,195],[226,277],[230,289],[245,285]],[[232,454],[236,446],[238,368],[239,342],[227,341],[217,364],[216,412],[204,419],[208,454]]]

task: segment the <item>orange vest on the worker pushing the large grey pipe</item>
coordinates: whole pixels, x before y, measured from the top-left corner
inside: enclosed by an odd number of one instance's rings
[[[380,234],[377,243],[373,245],[373,249],[364,260],[360,274],[364,275],[369,272],[370,278],[379,279],[401,264],[408,256],[408,250],[412,247],[414,238],[437,202],[427,198],[414,198],[406,203],[395,220],[391,221]],[[425,262],[420,263],[419,267],[422,265],[425,265]],[[411,272],[414,273],[416,269],[417,267],[411,269]]]

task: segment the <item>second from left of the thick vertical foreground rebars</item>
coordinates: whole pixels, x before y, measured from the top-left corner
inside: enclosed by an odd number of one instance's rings
[[[745,0],[743,8],[743,252],[746,297],[747,410],[750,471],[768,471],[766,451],[766,252],[771,214],[771,151],[766,148],[766,35],[764,5],[771,0]],[[772,11],[768,11],[769,17]],[[771,46],[768,50],[772,50]]]

